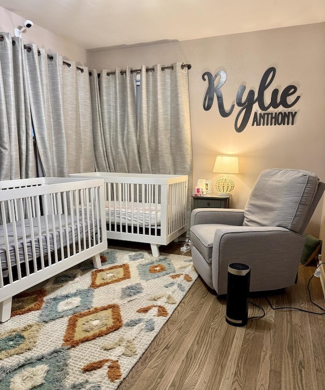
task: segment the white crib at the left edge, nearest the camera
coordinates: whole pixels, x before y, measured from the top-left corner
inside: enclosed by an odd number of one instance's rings
[[[107,249],[101,179],[0,181],[0,322],[12,297]]]

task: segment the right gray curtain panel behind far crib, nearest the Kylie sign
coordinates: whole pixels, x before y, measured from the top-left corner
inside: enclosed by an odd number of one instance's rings
[[[138,145],[141,172],[188,175],[187,224],[190,224],[192,144],[188,69],[182,63],[141,67]],[[161,69],[164,70],[161,70]]]

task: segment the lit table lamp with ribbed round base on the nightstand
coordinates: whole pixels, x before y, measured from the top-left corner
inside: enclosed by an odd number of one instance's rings
[[[226,174],[239,173],[238,156],[217,156],[215,159],[214,173],[223,173],[223,177],[219,177],[215,181],[215,188],[219,195],[229,195],[235,188],[235,182],[232,178],[227,177]]]

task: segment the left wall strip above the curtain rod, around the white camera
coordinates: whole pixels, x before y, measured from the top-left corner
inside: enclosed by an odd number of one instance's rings
[[[10,33],[14,36],[14,29],[22,26],[28,18],[22,18],[0,7],[0,32]],[[62,55],[63,59],[70,59],[70,61],[76,62],[77,65],[87,66],[89,64],[90,53],[87,53],[86,49],[60,38],[36,24],[28,29],[26,28],[22,33],[22,39],[25,44],[35,43],[39,47],[45,48],[48,53],[58,53]]]

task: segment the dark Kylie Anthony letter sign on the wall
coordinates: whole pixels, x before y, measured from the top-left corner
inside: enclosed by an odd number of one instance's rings
[[[255,97],[255,92],[253,89],[250,89],[247,93],[246,98],[244,98],[244,93],[246,86],[240,85],[236,95],[236,105],[240,108],[236,119],[235,119],[235,130],[237,133],[241,133],[247,123],[252,113],[252,109],[255,103],[257,103],[259,109],[262,112],[255,111],[252,119],[252,126],[274,126],[274,125],[294,125],[297,111],[269,111],[271,108],[277,109],[279,107],[291,108],[293,107],[300,96],[297,96],[291,103],[288,102],[288,98],[293,96],[298,91],[296,85],[286,86],[280,97],[279,89],[274,88],[271,94],[271,100],[269,103],[265,102],[265,91],[269,88],[272,81],[274,80],[276,70],[274,67],[271,67],[266,70],[262,76],[261,82],[259,83],[257,96]],[[219,77],[219,78],[218,78]],[[215,85],[215,81],[218,78],[218,83]],[[208,81],[207,92],[203,101],[203,108],[208,111],[212,107],[214,94],[217,97],[217,104],[219,113],[223,117],[230,116],[235,108],[235,103],[233,102],[230,107],[225,108],[223,103],[223,96],[221,92],[221,87],[225,83],[227,78],[226,72],[223,70],[218,71],[214,76],[210,72],[205,72],[202,75],[204,81]]]

